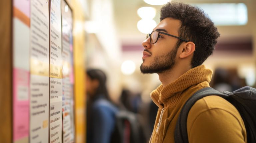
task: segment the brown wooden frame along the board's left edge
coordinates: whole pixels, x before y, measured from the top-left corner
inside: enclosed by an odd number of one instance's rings
[[[12,142],[12,1],[0,2],[0,142]]]

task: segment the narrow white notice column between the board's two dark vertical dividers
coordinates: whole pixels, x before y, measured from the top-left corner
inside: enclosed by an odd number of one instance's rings
[[[50,5],[50,143],[62,142],[62,45],[60,0]]]

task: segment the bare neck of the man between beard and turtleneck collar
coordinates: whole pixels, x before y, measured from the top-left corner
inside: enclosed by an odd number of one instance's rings
[[[180,66],[182,65],[182,66]],[[182,63],[175,63],[172,69],[158,73],[159,80],[162,82],[163,86],[166,86],[176,79],[178,79],[182,74],[191,69],[191,66],[185,66]]]

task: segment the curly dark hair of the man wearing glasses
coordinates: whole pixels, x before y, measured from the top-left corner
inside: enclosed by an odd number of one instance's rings
[[[168,17],[180,20],[179,37],[196,45],[191,61],[192,68],[202,65],[212,55],[217,38],[220,36],[214,23],[200,8],[179,2],[169,2],[161,8],[160,20]],[[177,47],[182,42],[182,40],[177,42]]]

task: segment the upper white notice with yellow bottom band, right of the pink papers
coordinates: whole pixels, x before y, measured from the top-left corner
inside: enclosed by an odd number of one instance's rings
[[[31,0],[30,72],[43,76],[49,76],[49,8],[47,1]]]

